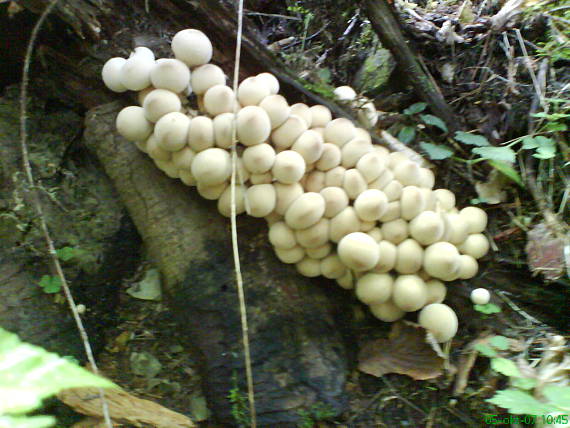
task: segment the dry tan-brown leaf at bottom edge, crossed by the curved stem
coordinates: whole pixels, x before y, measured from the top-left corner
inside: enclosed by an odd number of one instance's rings
[[[58,394],[58,398],[78,413],[102,417],[97,388],[66,389]],[[115,422],[137,426],[144,423],[156,428],[195,427],[187,416],[121,389],[106,389],[105,399],[109,404],[111,419]]]

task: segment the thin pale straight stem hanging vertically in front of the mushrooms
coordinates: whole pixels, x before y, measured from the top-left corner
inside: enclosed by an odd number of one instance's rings
[[[241,331],[243,342],[243,353],[245,360],[245,374],[247,380],[247,397],[249,401],[249,414],[251,428],[257,427],[257,415],[255,411],[255,393],[253,390],[253,370],[251,367],[251,353],[249,349],[249,332],[247,322],[247,305],[245,302],[245,292],[243,289],[243,277],[241,274],[241,264],[239,259],[239,245],[237,235],[237,220],[236,220],[236,174],[237,174],[237,89],[239,82],[239,67],[241,59],[241,40],[243,33],[243,0],[238,3],[238,16],[237,16],[237,35],[236,35],[236,58],[234,64],[233,76],[233,91],[234,91],[234,117],[232,121],[232,176],[230,182],[230,196],[231,196],[231,229],[232,229],[232,250],[234,258],[234,267],[236,273],[236,285],[239,298],[239,310],[241,317]]]

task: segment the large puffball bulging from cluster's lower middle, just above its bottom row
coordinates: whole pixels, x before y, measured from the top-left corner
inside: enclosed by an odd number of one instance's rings
[[[337,251],[342,262],[356,272],[372,269],[380,258],[376,241],[362,232],[349,233],[343,237],[338,243]]]

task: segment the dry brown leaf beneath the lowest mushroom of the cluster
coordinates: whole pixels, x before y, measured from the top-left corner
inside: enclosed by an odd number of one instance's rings
[[[415,380],[441,375],[444,359],[426,341],[426,330],[408,322],[393,324],[388,339],[366,344],[358,355],[358,369],[372,376],[398,373]]]

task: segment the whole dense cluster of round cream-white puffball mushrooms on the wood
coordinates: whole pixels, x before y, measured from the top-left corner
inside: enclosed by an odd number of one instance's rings
[[[443,281],[477,273],[489,248],[485,212],[459,211],[452,192],[432,190],[431,170],[373,144],[327,107],[289,105],[269,73],[245,79],[234,94],[209,63],[212,44],[202,32],[180,31],[172,50],[175,59],[155,60],[139,47],[103,67],[111,90],[140,91],[141,105],[118,114],[119,133],[228,217],[235,124],[237,213],[267,220],[282,262],[356,288],[383,321],[421,310],[420,324],[438,341],[452,338],[457,317],[442,304]],[[199,112],[189,107],[192,92]]]

